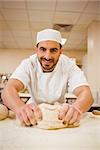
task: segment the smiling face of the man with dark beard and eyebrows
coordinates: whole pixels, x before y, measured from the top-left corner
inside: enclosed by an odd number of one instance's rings
[[[38,60],[44,72],[54,70],[61,54],[60,44],[55,41],[42,41],[36,48]]]

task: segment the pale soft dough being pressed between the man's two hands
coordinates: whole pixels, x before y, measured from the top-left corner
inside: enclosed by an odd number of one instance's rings
[[[74,125],[63,124],[62,120],[58,119],[59,110],[62,107],[60,104],[50,105],[42,103],[39,105],[39,107],[42,111],[42,120],[38,122],[38,128],[53,130],[79,126],[79,123],[76,123]]]

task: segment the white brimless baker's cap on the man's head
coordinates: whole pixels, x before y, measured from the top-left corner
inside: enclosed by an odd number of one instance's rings
[[[37,33],[36,44],[47,40],[56,41],[62,45],[61,34],[57,30],[45,29]]]

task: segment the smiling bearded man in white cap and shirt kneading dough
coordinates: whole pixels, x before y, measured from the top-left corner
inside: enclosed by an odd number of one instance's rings
[[[59,31],[45,29],[37,33],[35,54],[23,60],[11,75],[3,92],[4,104],[13,110],[21,123],[36,125],[42,119],[40,103],[59,102],[58,118],[64,123],[80,121],[81,113],[93,103],[90,87],[83,71],[62,53]],[[25,104],[19,91],[28,88],[32,102]],[[73,104],[64,102],[66,92],[76,95]]]

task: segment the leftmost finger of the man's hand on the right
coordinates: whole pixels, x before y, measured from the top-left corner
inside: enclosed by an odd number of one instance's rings
[[[60,112],[59,112],[59,115],[58,115],[58,118],[60,120],[63,120],[65,118],[68,109],[69,109],[69,105],[64,103]]]

